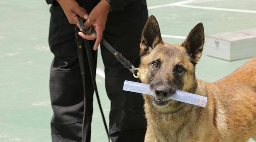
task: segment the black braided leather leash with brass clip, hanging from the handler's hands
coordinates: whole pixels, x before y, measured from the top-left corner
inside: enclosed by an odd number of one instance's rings
[[[94,34],[96,36],[96,31],[90,27],[90,28],[86,28],[84,26],[84,20],[79,17],[79,25],[81,30],[84,33],[87,33],[88,31],[91,32],[92,34]],[[79,56],[79,64],[80,64],[80,68],[81,68],[81,75],[82,75],[82,79],[83,79],[83,89],[84,89],[84,118],[83,118],[83,130],[82,130],[82,142],[90,142],[90,125],[91,125],[91,118],[89,118],[87,116],[87,108],[88,107],[88,103],[92,103],[92,102],[87,102],[86,100],[86,94],[85,94],[85,78],[84,78],[84,60],[83,60],[83,46],[82,43],[84,43],[85,45],[85,49],[86,49],[86,53],[87,53],[87,59],[89,62],[89,66],[90,66],[90,73],[91,73],[91,77],[92,77],[92,84],[95,90],[95,94],[97,97],[97,101],[98,101],[98,105],[100,107],[100,113],[103,119],[103,123],[104,123],[104,127],[105,130],[108,134],[108,142],[109,140],[109,133],[108,133],[108,127],[106,124],[106,120],[102,111],[102,106],[100,103],[100,97],[98,94],[98,90],[97,90],[97,84],[95,81],[95,72],[94,69],[95,67],[92,64],[92,51],[90,50],[92,47],[90,47],[90,43],[88,40],[83,40],[79,35],[78,35],[79,29],[76,27],[76,42],[77,42],[77,47],[78,47],[78,56]],[[82,40],[81,40],[82,39]],[[84,42],[82,42],[84,41]],[[104,38],[102,39],[101,43],[115,56],[115,58],[125,67],[128,68],[128,70],[133,74],[134,77],[138,78],[138,68],[135,68],[133,66],[133,64],[130,63],[129,60],[127,60],[121,53],[119,53],[118,51],[116,51]],[[83,69],[83,70],[82,70]],[[90,121],[88,121],[90,120]]]

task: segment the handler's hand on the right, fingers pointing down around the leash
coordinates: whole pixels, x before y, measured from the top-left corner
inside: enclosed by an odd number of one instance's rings
[[[100,3],[98,3],[95,8],[93,8],[92,12],[89,14],[86,22],[84,23],[86,28],[89,28],[92,25],[97,33],[97,38],[93,34],[88,35],[82,32],[78,33],[84,39],[95,40],[96,38],[95,44],[93,46],[94,50],[97,49],[100,41],[102,40],[103,31],[105,30],[109,11],[110,4],[106,0],[101,0]],[[77,25],[79,26],[79,24]]]

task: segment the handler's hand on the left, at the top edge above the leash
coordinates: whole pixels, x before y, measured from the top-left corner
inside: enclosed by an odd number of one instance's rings
[[[84,8],[81,8],[75,0],[57,0],[61,8],[63,9],[69,23],[77,24],[79,23],[77,15],[87,19],[88,14]]]

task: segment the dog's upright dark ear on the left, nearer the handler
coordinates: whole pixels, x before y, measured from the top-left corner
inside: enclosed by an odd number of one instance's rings
[[[141,36],[141,56],[145,55],[157,44],[163,43],[160,28],[155,16],[151,15],[143,28]]]

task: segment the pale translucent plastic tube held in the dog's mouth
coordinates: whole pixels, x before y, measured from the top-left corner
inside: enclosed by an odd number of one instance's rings
[[[140,94],[153,95],[150,91],[148,84],[143,84],[143,83],[138,83],[133,81],[125,80],[123,84],[123,90],[136,92]],[[205,96],[200,96],[197,94],[192,94],[192,93],[188,93],[180,90],[177,90],[175,94],[171,96],[171,99],[176,101],[182,101],[188,104],[194,104],[196,106],[202,106],[202,107],[205,107],[207,103],[207,97]]]

